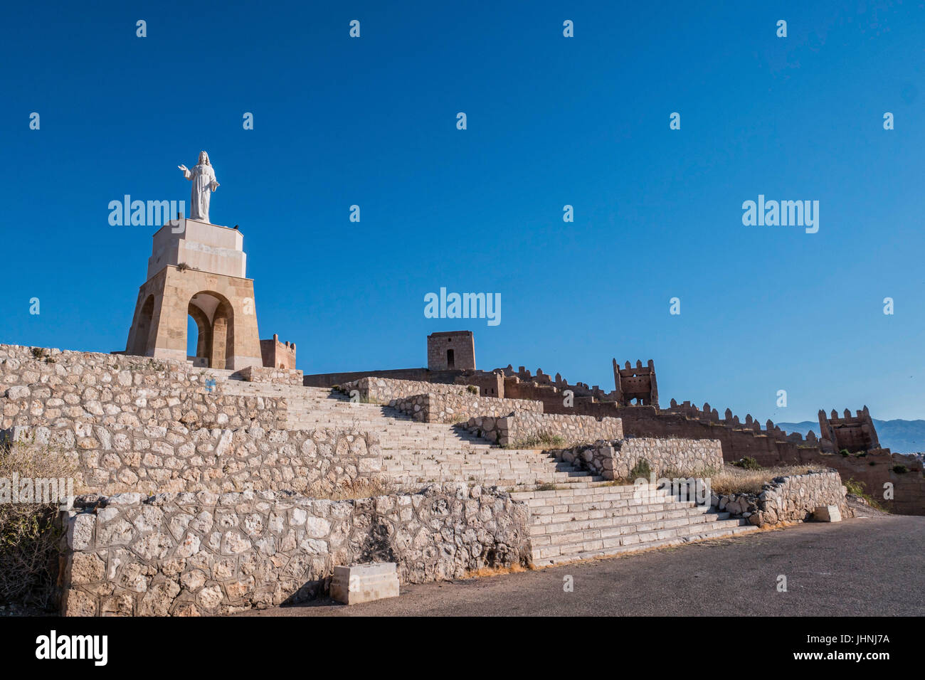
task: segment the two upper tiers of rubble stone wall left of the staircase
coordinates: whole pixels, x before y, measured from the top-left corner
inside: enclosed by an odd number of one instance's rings
[[[375,435],[283,429],[281,398],[233,396],[179,362],[0,345],[7,438],[49,445],[77,464],[76,488],[279,489],[325,493],[377,478]]]

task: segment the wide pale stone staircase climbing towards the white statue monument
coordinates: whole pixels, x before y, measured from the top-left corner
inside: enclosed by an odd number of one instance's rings
[[[352,428],[376,433],[383,472],[400,488],[467,481],[498,486],[530,508],[533,561],[547,566],[755,530],[664,489],[640,494],[564,464],[543,451],[502,449],[451,425],[419,423],[332,389],[223,379],[227,394],[285,397],[288,429]]]

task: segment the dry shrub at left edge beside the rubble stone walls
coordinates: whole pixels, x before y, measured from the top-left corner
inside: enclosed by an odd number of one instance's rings
[[[76,465],[62,451],[31,443],[0,444],[0,478],[72,478]],[[75,488],[75,493],[79,492]],[[51,605],[60,553],[56,503],[0,502],[0,601]]]

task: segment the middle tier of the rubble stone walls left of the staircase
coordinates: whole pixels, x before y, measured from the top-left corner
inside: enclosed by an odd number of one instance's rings
[[[325,494],[357,480],[383,479],[382,451],[370,432],[75,427],[76,433],[18,427],[12,439],[65,451],[76,464],[75,488],[102,494],[263,489]]]

